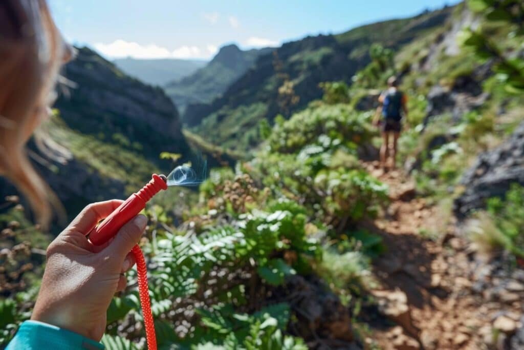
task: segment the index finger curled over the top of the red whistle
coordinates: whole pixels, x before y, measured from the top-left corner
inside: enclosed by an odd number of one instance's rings
[[[123,203],[123,200],[112,199],[106,201],[99,201],[96,203],[91,203],[86,206],[80,212],[77,217],[71,221],[68,229],[70,231],[77,231],[83,235],[89,234],[91,230],[98,224],[98,222],[107,216],[109,216],[113,211],[118,208],[119,205]]]

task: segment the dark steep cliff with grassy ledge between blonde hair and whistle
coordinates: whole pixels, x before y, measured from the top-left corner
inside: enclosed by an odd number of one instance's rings
[[[177,108],[161,89],[126,76],[89,48],[78,49],[62,73],[57,111],[28,154],[69,215],[170,171],[160,152],[189,152]],[[2,180],[0,194],[14,192]]]

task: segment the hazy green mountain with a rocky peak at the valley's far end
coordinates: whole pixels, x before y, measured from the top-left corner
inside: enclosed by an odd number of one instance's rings
[[[223,46],[205,67],[167,83],[166,93],[181,112],[190,103],[209,103],[252,67],[258,56],[269,51],[270,48],[243,51],[234,44]]]

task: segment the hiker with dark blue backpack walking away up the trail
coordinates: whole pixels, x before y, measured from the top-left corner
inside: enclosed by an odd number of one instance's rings
[[[396,77],[388,79],[388,89],[380,94],[378,101],[381,106],[377,109],[377,114],[375,115],[375,125],[380,125],[382,133],[380,167],[387,171],[388,156],[392,158],[391,167],[395,168],[397,141],[402,130],[402,112],[403,116],[408,116],[407,97],[405,93],[398,89]],[[390,140],[392,141],[392,146],[390,146]]]

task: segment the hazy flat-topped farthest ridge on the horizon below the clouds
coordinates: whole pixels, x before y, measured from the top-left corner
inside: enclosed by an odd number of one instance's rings
[[[160,85],[187,77],[208,62],[184,59],[134,59],[113,60],[127,75],[152,85]]]

